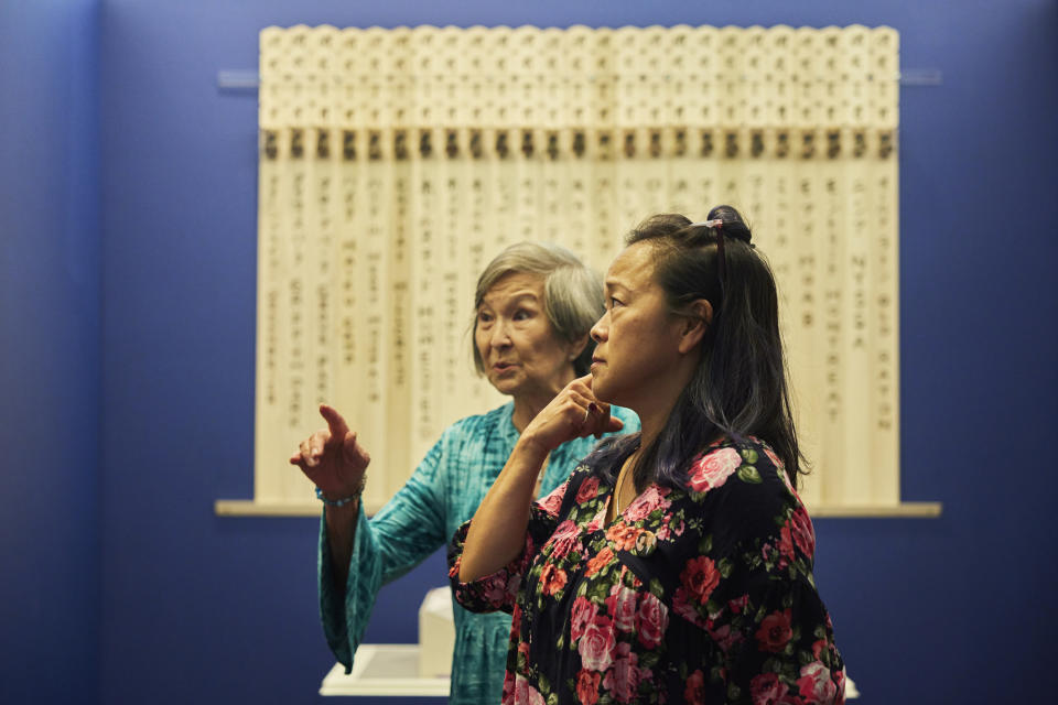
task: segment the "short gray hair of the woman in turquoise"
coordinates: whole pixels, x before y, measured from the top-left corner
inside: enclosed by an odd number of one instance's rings
[[[605,311],[602,278],[575,254],[557,245],[511,245],[497,254],[477,278],[473,332],[477,332],[476,312],[481,308],[485,294],[507,274],[537,274],[543,278],[543,311],[555,335],[566,343],[575,343],[587,336],[587,344],[573,360],[576,376],[587,375],[592,366],[592,351],[595,349],[595,343],[589,333]],[[475,339],[471,340],[471,347],[474,348],[474,367],[478,373],[484,373],[485,362]]]

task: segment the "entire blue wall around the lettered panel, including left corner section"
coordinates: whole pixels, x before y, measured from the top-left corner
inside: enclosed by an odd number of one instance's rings
[[[902,90],[900,267],[903,495],[944,513],[819,520],[817,574],[862,702],[1038,699],[1058,9],[861,4],[0,2],[0,701],[321,699],[316,522],[213,513],[252,495],[256,301],[256,100],[217,70],[256,67],[270,24],[680,22],[888,24],[905,67],[943,72]],[[384,592],[368,639],[413,641],[442,583],[434,556]]]

